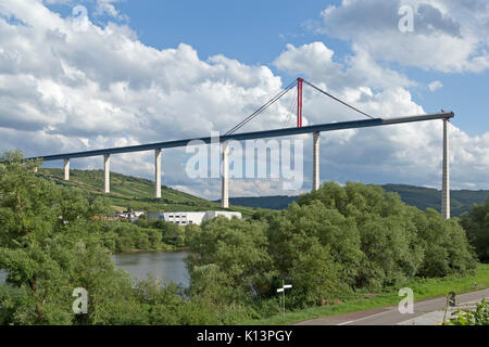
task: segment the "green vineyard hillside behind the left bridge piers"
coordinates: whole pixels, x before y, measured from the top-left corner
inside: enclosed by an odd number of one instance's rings
[[[62,169],[40,169],[39,175],[52,179],[57,184],[76,187],[96,195],[108,198],[114,211],[135,210],[148,211],[192,211],[222,210],[218,203],[197,197],[172,188],[162,185],[162,198],[154,198],[154,182],[143,178],[111,172],[111,193],[103,193],[103,170],[70,170],[70,181],[63,180]],[[230,206],[229,210],[240,211],[251,216],[254,208]]]

